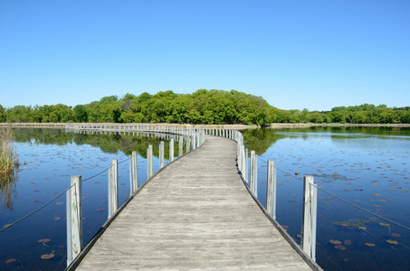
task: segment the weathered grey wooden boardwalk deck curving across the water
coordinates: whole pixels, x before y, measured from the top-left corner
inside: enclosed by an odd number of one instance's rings
[[[77,270],[312,270],[253,201],[235,155],[234,141],[206,135],[148,182]]]

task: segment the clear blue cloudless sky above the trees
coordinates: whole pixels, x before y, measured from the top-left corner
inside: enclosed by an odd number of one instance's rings
[[[410,106],[409,0],[0,0],[0,104],[235,89]]]

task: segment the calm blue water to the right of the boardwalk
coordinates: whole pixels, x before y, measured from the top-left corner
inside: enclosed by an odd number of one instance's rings
[[[335,197],[410,227],[409,128],[248,130],[243,135],[249,149],[259,154],[258,195],[263,204],[265,161],[274,160],[277,220],[289,227],[298,243],[302,176],[313,175],[324,190],[318,191],[320,266],[325,270],[409,270],[410,230]],[[343,247],[330,240],[340,241]]]

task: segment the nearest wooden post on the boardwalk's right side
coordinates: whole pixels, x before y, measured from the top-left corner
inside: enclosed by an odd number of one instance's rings
[[[313,176],[306,175],[303,185],[303,217],[301,248],[316,261],[316,222],[318,207],[318,189],[314,185]]]

